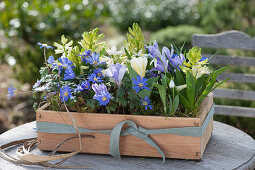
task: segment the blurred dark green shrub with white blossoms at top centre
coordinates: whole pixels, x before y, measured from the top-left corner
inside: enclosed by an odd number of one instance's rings
[[[200,18],[195,1],[115,0],[108,3],[114,25],[123,31],[134,22],[155,31],[169,25],[196,24]]]

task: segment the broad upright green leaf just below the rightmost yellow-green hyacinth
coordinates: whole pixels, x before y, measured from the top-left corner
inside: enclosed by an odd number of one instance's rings
[[[186,73],[186,84],[187,84],[187,97],[191,105],[195,104],[195,80],[192,74],[187,71]]]

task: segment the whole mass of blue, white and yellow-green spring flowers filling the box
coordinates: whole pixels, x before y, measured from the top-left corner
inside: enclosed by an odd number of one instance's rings
[[[193,47],[187,53],[182,48],[145,44],[138,24],[129,28],[123,49],[108,47],[98,29],[82,34],[78,45],[63,35],[53,49],[43,48],[45,67],[32,88],[39,104],[70,111],[158,116],[197,116],[204,98],[227,80],[217,82],[217,76],[228,69],[213,70],[201,49]],[[14,96],[13,86],[8,96]]]

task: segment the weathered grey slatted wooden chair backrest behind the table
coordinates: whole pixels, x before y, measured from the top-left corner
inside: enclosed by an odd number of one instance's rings
[[[214,49],[239,49],[255,51],[255,38],[240,31],[227,31],[219,34],[194,34],[192,45]],[[204,57],[211,55],[202,54]],[[210,61],[211,64],[232,65],[232,66],[255,66],[255,57],[238,57],[227,55],[215,55]],[[255,84],[254,74],[223,73],[219,80],[232,77],[230,82],[253,83]],[[255,101],[255,91],[237,89],[215,89],[215,98],[239,99]],[[255,117],[255,108],[216,105],[215,114]]]

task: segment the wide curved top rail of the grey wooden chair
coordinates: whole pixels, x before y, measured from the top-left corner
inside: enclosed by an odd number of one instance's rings
[[[207,48],[255,50],[255,39],[240,31],[219,34],[194,34],[192,45]]]

